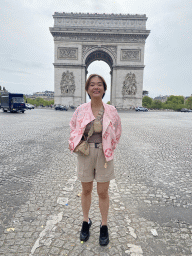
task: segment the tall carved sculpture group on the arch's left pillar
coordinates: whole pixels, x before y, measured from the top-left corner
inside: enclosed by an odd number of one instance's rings
[[[60,83],[60,88],[61,88],[61,95],[62,96],[72,96],[74,95],[75,92],[75,79],[73,72],[63,72],[62,78],[61,78],[61,83]]]

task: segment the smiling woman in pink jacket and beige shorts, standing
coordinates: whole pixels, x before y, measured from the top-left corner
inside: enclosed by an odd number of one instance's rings
[[[69,148],[73,152],[82,140],[88,140],[89,155],[78,153],[78,178],[82,184],[81,203],[83,224],[80,240],[89,239],[89,209],[93,180],[97,181],[99,208],[102,217],[100,226],[100,245],[109,243],[107,216],[109,209],[108,188],[114,179],[113,155],[114,149],[121,136],[121,121],[115,107],[105,104],[102,98],[107,90],[103,77],[92,74],[86,81],[85,90],[91,101],[80,105],[73,114],[70,122]],[[92,134],[90,136],[90,130]],[[89,133],[89,134],[88,134]]]

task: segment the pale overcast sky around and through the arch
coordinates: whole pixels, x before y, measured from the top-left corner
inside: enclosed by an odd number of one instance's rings
[[[143,90],[192,94],[192,0],[0,0],[0,85],[9,92],[54,91],[54,12],[146,14]],[[109,66],[95,61],[88,72],[106,79],[107,102]]]

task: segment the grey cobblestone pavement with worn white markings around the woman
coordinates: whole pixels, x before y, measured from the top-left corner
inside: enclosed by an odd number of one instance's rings
[[[68,150],[72,112],[0,111],[0,255],[192,255],[192,114],[120,112],[107,247],[79,241],[81,184]]]

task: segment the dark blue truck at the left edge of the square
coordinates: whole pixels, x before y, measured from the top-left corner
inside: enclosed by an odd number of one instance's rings
[[[24,113],[26,110],[23,94],[21,93],[2,92],[0,99],[0,107],[3,109],[3,112],[10,111],[11,113]]]

